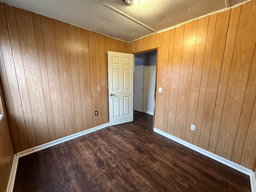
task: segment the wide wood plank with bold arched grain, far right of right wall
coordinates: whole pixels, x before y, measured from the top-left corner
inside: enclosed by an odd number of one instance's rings
[[[256,43],[256,3],[242,5],[216,154],[231,159]],[[255,159],[255,158],[254,158]],[[254,163],[254,162],[253,162]],[[252,163],[252,164],[253,164]]]

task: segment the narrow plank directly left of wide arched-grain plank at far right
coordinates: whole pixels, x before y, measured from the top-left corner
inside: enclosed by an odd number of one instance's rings
[[[218,139],[218,133],[220,130],[220,120],[222,116],[222,110],[224,105],[224,100],[226,96],[226,89],[228,85],[228,77],[230,72],[230,66],[232,62],[232,56],[234,52],[234,45],[236,40],[236,32],[238,27],[238,21],[240,16],[241,6],[231,9],[230,20],[228,26],[228,34],[226,38],[225,52],[223,56],[223,64],[220,74],[220,83],[217,92],[216,104],[214,109],[214,116],[212,122],[212,130],[210,135],[210,142],[208,150],[215,153],[216,144]]]

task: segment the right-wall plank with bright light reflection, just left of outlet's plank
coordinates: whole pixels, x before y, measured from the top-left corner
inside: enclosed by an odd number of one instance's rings
[[[198,20],[184,25],[174,136],[185,139]]]

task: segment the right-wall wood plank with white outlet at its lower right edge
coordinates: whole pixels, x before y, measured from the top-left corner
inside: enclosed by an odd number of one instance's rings
[[[194,56],[194,65],[192,72],[190,98],[188,105],[188,117],[186,122],[185,141],[192,143],[194,131],[190,129],[191,124],[196,123],[196,111],[198,106],[198,98],[200,91],[200,83],[202,77],[202,68],[204,62],[204,51],[206,46],[206,36],[208,29],[209,16],[198,20],[198,29],[196,36],[196,50]]]

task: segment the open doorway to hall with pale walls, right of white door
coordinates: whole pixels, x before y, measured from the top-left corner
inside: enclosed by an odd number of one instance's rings
[[[134,59],[134,120],[138,112],[154,115],[156,50],[135,54]]]

